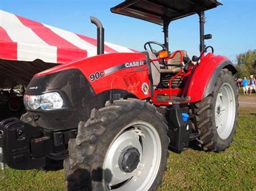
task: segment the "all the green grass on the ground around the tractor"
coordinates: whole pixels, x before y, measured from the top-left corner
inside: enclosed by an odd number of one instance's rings
[[[61,191],[63,181],[63,171],[0,171],[1,191]],[[236,137],[225,152],[170,152],[158,191],[167,190],[256,191],[256,109],[240,109]]]

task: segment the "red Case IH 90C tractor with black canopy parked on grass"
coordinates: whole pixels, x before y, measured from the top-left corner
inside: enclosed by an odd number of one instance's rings
[[[204,11],[218,5],[127,0],[113,7],[163,26],[164,44],[149,41],[141,53],[104,54],[104,28],[91,18],[99,55],[32,78],[27,113],[0,123],[0,160],[15,169],[64,166],[69,191],[152,191],[162,182],[168,148],[181,152],[195,142],[224,151],[236,131],[238,94],[232,62],[204,45],[211,38]],[[193,14],[200,19],[200,56],[191,60],[185,50],[170,52],[168,26]]]

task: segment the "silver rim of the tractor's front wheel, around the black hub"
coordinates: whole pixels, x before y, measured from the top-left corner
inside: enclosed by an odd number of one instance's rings
[[[119,167],[119,156],[127,147],[137,148],[140,153],[137,168],[131,173]],[[103,165],[104,184],[108,190],[144,191],[153,184],[162,156],[160,137],[154,126],[137,121],[127,125],[115,137],[109,147]]]

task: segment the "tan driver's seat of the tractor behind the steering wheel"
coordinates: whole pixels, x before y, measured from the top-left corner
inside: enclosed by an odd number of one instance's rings
[[[188,57],[188,54],[187,54],[187,51],[186,51],[186,50],[181,50],[181,52],[182,52],[182,54],[183,54],[183,55],[182,55],[183,57]],[[171,53],[170,57],[171,57],[172,55],[174,55],[174,52]],[[181,63],[181,64],[184,65],[184,62],[181,62],[181,61],[180,61],[180,54],[179,54],[179,53],[177,53],[174,58],[169,59],[169,60],[167,61],[167,64],[179,64],[179,63]],[[161,74],[166,74],[166,73],[178,73],[179,71],[180,71],[180,67],[179,67],[179,66],[167,66],[167,68],[166,68],[166,66],[160,65],[160,73],[161,73]]]

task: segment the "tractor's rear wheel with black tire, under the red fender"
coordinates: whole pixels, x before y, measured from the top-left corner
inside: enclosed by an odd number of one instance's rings
[[[232,73],[222,69],[212,93],[195,106],[199,146],[205,151],[226,150],[233,141],[238,119],[238,92]]]

